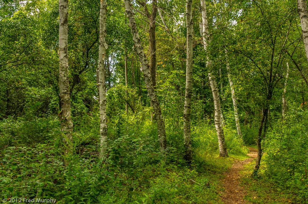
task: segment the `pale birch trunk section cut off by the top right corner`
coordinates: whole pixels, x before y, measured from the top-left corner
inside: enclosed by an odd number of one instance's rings
[[[308,12],[306,0],[297,0],[297,12],[302,25],[303,41],[308,61]]]

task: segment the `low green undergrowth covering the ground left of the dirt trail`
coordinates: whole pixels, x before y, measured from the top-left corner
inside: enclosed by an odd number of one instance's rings
[[[35,128],[45,130],[44,125],[41,120]],[[52,198],[59,203],[220,203],[219,179],[233,159],[218,157],[214,132],[201,137],[202,131],[213,127],[194,128],[195,162],[188,167],[180,145],[171,142],[165,152],[159,151],[157,136],[153,139],[155,128],[148,123],[141,128],[149,127],[148,131],[138,137],[121,133],[110,139],[106,159],[98,159],[96,140],[88,138],[78,143],[82,136],[77,134],[72,154],[63,155],[57,126],[50,122],[45,133],[49,138],[29,144],[27,139],[34,131],[26,133],[12,120],[2,122],[2,132],[6,130],[5,137],[11,138],[9,145],[2,148],[3,198]],[[23,137],[14,136],[21,133]],[[36,137],[39,139],[39,135]],[[180,135],[170,137],[183,139]],[[242,157],[247,153],[231,130],[226,141],[231,156],[233,152]]]

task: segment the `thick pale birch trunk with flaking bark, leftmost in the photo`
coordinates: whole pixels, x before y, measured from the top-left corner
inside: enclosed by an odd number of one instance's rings
[[[68,0],[59,0],[59,95],[61,131],[65,134],[65,141],[72,142],[73,121],[71,119],[71,99],[68,81],[68,53],[67,53],[67,4]],[[68,149],[64,152],[67,154]]]

